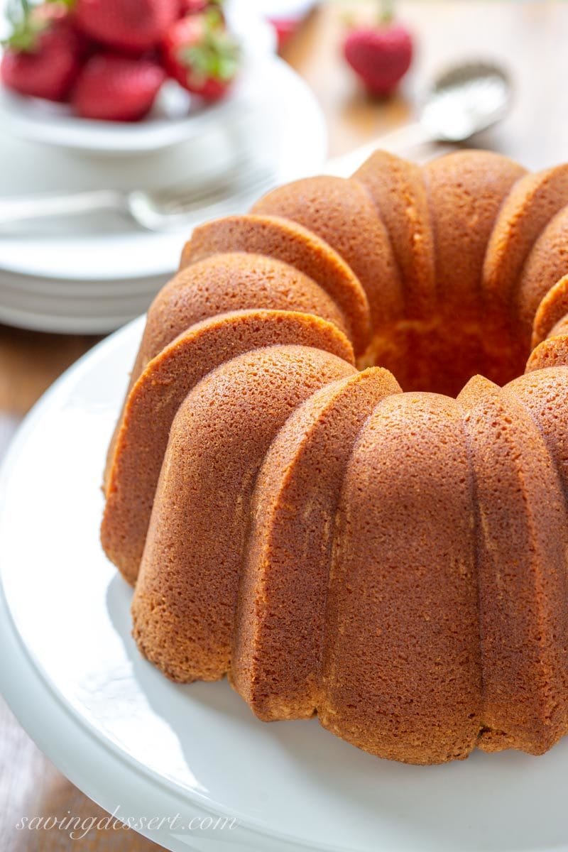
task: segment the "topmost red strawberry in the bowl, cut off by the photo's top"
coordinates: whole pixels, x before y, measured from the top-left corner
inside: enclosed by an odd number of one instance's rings
[[[140,54],[162,41],[179,14],[179,0],[77,0],[75,22],[97,42]]]

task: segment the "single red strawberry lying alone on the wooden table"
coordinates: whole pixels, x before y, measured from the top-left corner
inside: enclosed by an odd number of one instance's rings
[[[402,24],[393,22],[387,4],[378,26],[353,29],[343,51],[349,65],[371,95],[390,95],[410,68],[412,38]]]

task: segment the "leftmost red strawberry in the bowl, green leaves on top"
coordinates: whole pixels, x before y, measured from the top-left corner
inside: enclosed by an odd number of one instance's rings
[[[65,101],[80,68],[84,44],[64,3],[24,5],[2,58],[3,82],[20,92]]]

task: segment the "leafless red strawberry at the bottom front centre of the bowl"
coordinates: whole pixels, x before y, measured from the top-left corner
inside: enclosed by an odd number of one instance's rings
[[[152,108],[164,78],[152,60],[97,54],[83,67],[72,103],[83,118],[137,121]]]

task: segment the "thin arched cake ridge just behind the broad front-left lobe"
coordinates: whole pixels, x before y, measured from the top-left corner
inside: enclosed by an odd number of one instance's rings
[[[318,346],[353,362],[347,338],[313,314],[235,311],[193,325],[157,355],[135,383],[114,446],[101,527],[106,554],[129,583],[138,573],[169,428],[181,403],[225,361],[274,343]]]

